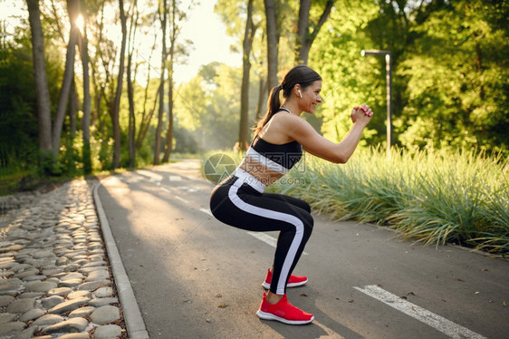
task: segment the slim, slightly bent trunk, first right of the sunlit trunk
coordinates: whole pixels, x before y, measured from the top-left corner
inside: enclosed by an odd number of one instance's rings
[[[113,110],[111,111],[112,124],[113,124],[113,169],[120,167],[120,96],[122,94],[122,84],[124,79],[124,64],[126,55],[126,40],[127,40],[127,24],[126,15],[124,12],[124,1],[119,0],[120,6],[120,24],[122,27],[122,42],[120,44],[120,65],[119,77],[117,79],[117,92],[115,93],[115,102],[113,103]]]

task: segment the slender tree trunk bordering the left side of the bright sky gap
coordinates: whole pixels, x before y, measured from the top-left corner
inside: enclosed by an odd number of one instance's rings
[[[168,128],[166,131],[166,147],[164,150],[163,162],[168,162],[169,154],[173,148],[173,61],[175,44],[177,44],[177,4],[171,1],[171,33],[169,42],[169,64],[168,64]]]

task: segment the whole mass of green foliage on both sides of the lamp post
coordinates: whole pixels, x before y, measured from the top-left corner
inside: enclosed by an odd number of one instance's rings
[[[386,138],[383,57],[392,52],[395,140],[410,150],[509,143],[507,1],[355,2],[337,4],[313,44],[310,65],[322,74],[325,101],[317,115],[322,133],[341,140],[351,107],[375,111],[364,140]]]

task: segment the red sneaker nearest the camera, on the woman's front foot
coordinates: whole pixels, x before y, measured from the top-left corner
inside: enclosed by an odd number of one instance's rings
[[[262,305],[256,312],[261,319],[277,320],[284,324],[309,324],[314,320],[314,315],[304,312],[288,302],[286,295],[283,295],[277,304],[269,304],[267,295],[264,293]]]

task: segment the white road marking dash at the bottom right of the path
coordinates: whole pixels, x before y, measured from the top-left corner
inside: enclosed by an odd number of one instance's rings
[[[436,315],[422,307],[419,307],[418,305],[414,305],[400,298],[398,295],[393,295],[387,292],[386,290],[380,288],[379,286],[370,285],[364,286],[364,288],[354,286],[353,288],[366,295],[370,295],[375,299],[378,299],[379,301],[386,305],[389,305],[390,307],[396,308],[398,311],[403,312],[406,315],[410,315],[411,317],[418,319],[419,321],[437,329],[443,334],[447,334],[451,338],[485,339],[485,336],[481,334],[476,334],[475,332],[470,331],[466,327],[453,323],[440,315]]]

